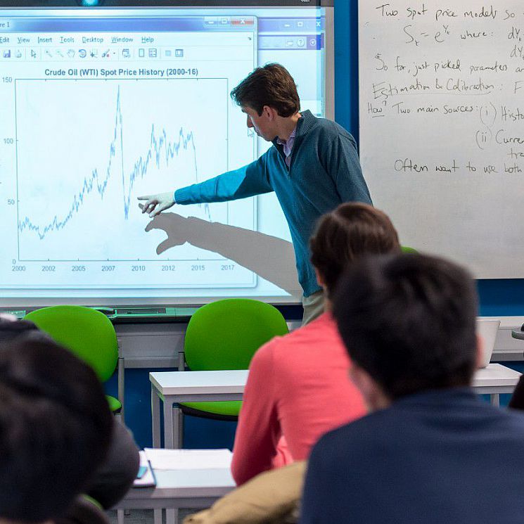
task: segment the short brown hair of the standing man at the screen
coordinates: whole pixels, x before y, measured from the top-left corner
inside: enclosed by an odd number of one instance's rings
[[[300,111],[295,80],[280,64],[256,68],[231,91],[231,98],[241,107],[254,109],[262,115],[264,106],[276,110],[281,117],[290,117]]]

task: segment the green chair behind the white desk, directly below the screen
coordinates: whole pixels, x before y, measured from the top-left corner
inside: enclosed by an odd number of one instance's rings
[[[248,298],[227,298],[200,307],[188,323],[184,357],[191,371],[248,369],[253,354],[288,325],[276,307]],[[181,446],[182,414],[237,420],[242,402],[184,402],[175,408]]]

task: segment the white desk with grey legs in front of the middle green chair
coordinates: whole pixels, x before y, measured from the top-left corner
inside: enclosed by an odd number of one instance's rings
[[[160,447],[160,399],[164,402],[164,447],[181,447],[179,402],[242,400],[248,370],[157,371],[149,373],[153,447]],[[174,439],[177,435],[177,439]]]

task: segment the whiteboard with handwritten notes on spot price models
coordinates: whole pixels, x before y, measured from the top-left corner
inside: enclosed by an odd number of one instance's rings
[[[524,4],[359,1],[360,153],[401,241],[524,277]]]

